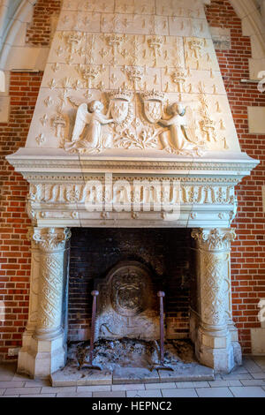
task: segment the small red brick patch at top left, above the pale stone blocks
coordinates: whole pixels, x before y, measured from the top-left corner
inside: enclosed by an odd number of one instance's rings
[[[61,0],[38,0],[34,6],[34,17],[27,28],[27,43],[34,46],[49,46],[52,18],[57,17]]]

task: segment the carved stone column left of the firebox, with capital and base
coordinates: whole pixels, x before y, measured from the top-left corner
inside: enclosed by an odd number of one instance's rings
[[[30,310],[25,335],[27,342],[23,343],[19,353],[18,370],[33,377],[43,377],[65,365],[62,328],[64,254],[71,232],[66,228],[34,228],[30,234],[34,247]]]

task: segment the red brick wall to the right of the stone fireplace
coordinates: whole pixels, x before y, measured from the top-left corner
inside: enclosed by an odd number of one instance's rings
[[[212,0],[206,12],[209,26],[231,29],[231,49],[216,50],[216,53],[241,149],[261,161],[251,177],[246,177],[237,188],[239,211],[233,226],[238,239],[232,245],[231,254],[234,321],[243,351],[250,353],[250,328],[261,327],[257,305],[260,298],[265,298],[265,221],[261,198],[261,185],[265,184],[265,135],[248,133],[247,107],[265,106],[265,94],[259,93],[256,84],[240,83],[240,79],[249,79],[251,42],[242,35],[241,20],[230,2]]]

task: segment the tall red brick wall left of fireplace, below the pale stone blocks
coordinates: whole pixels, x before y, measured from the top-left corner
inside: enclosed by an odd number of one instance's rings
[[[25,146],[42,73],[11,73],[10,119],[0,124],[2,155]],[[30,251],[26,213],[28,186],[4,159],[0,164],[0,359],[21,344],[27,324]],[[4,308],[1,306],[4,301]]]

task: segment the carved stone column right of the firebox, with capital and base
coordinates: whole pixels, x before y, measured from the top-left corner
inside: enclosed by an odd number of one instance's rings
[[[231,229],[193,230],[197,250],[197,294],[200,323],[195,339],[202,364],[217,372],[231,372],[239,362],[233,342],[236,328],[231,320]],[[231,329],[232,328],[232,329]],[[233,332],[233,338],[231,333]],[[236,340],[237,341],[237,340]]]

